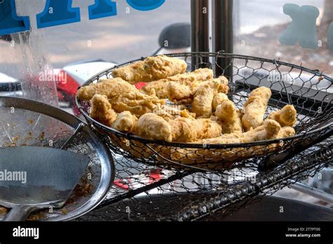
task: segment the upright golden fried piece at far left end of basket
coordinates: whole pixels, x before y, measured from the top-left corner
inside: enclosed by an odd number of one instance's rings
[[[103,123],[105,126],[112,126],[117,118],[117,113],[112,109],[112,105],[105,95],[94,95],[91,99],[91,118]]]

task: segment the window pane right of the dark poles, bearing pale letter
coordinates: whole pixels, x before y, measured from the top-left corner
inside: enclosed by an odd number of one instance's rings
[[[286,9],[287,4],[289,6],[296,4],[300,7],[313,6],[313,8],[307,10],[298,8],[295,13],[289,13]],[[280,59],[295,65],[302,64],[310,69],[319,69],[326,74],[333,74],[333,50],[329,50],[329,43],[333,45],[333,39],[327,40],[330,33],[329,25],[333,22],[332,5],[331,0],[235,0],[235,34],[237,36],[235,53]],[[315,15],[311,19],[315,8],[318,8],[318,18]],[[297,11],[303,12],[299,15]],[[281,43],[281,36],[291,25],[292,18],[294,18],[293,22],[296,22],[296,31],[288,37],[301,39],[303,34],[305,35],[303,39],[314,40],[316,46],[306,48],[304,47],[306,45],[300,45],[298,39],[296,40],[298,43],[290,46]],[[303,27],[302,22],[305,25]]]

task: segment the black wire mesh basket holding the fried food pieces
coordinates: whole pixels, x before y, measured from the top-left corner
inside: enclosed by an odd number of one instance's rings
[[[120,133],[93,120],[89,116],[89,102],[77,98],[77,105],[86,121],[98,130],[105,143],[116,154],[138,163],[158,165],[162,168],[223,172],[233,168],[257,168],[270,155],[283,155],[284,152],[295,154],[309,147],[311,143],[320,142],[332,135],[333,79],[318,70],[279,60],[226,53],[181,53],[169,56],[185,60],[191,70],[202,67],[215,69],[219,63],[216,61],[223,60],[226,65],[219,68],[223,74],[232,74],[227,76],[230,79],[228,96],[239,109],[244,106],[254,88],[270,88],[273,95],[266,115],[286,104],[293,104],[297,110],[296,135],[279,140],[242,144],[186,144],[145,140],[136,135]],[[198,61],[196,65],[191,64],[192,60]],[[107,69],[93,76],[84,86],[97,83],[99,79],[111,78],[113,69],[136,61],[138,60]]]

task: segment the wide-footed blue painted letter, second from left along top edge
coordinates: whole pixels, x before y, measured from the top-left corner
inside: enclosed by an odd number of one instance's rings
[[[72,8],[72,0],[47,0],[44,11],[37,15],[37,27],[65,25],[80,20],[80,9]]]

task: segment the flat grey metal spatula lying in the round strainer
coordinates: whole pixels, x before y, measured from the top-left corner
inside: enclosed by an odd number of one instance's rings
[[[48,147],[0,149],[0,205],[4,221],[23,221],[34,210],[62,208],[90,159]]]

